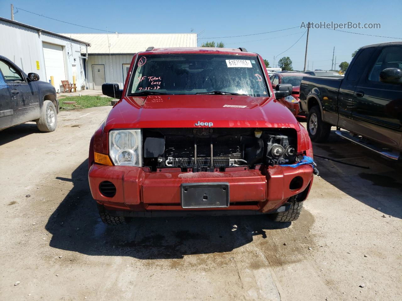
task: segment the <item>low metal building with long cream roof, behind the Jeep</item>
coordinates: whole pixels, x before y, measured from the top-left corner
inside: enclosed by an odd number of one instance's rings
[[[106,82],[118,83],[123,87],[133,55],[150,46],[197,47],[195,33],[63,35],[90,43],[87,62],[89,89],[101,89]]]

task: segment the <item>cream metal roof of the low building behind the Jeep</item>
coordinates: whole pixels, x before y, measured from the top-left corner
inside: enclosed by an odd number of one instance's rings
[[[66,37],[88,41],[88,54],[134,54],[148,47],[197,47],[196,33],[63,33]],[[109,43],[108,43],[109,41]]]

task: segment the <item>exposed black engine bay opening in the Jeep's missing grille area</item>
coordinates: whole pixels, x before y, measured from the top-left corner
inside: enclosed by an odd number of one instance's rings
[[[290,128],[146,128],[144,167],[151,171],[225,171],[228,167],[299,161],[297,132]]]

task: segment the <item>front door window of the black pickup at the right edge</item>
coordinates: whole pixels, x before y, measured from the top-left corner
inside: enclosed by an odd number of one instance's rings
[[[402,47],[385,47],[369,73],[370,81],[379,81],[379,73],[387,68],[402,69]]]

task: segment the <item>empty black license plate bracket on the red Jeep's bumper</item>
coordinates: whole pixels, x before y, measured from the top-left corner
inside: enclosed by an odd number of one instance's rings
[[[229,183],[183,183],[180,185],[180,202],[183,208],[227,208]]]

